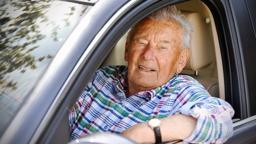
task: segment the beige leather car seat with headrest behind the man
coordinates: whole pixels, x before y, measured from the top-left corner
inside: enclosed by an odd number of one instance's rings
[[[198,13],[190,11],[182,11],[182,13],[189,19],[193,27],[190,56],[184,69],[195,71],[195,74],[190,76],[198,80],[211,96],[219,98],[218,79],[199,75],[201,69],[213,62],[213,48],[207,26]]]

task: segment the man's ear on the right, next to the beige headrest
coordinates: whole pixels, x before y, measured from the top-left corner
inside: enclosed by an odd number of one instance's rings
[[[181,73],[181,71],[185,67],[185,65],[188,61],[188,58],[189,58],[189,53],[190,53],[190,49],[188,49],[188,48],[183,49],[181,51],[179,63],[178,63],[177,70],[176,70],[177,73]]]

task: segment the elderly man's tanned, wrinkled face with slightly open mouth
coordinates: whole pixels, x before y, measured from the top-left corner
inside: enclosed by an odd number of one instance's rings
[[[181,26],[174,21],[141,21],[126,42],[129,87],[145,91],[171,79],[180,61],[181,36]]]

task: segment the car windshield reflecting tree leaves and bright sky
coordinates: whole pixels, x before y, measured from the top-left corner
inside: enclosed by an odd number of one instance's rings
[[[91,6],[0,0],[0,133]]]

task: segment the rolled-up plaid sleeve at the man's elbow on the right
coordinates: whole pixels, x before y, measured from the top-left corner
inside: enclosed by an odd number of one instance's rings
[[[215,97],[190,101],[174,114],[182,113],[197,119],[196,129],[183,143],[224,143],[233,134],[232,106]]]

